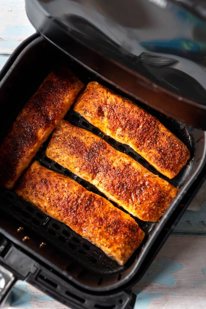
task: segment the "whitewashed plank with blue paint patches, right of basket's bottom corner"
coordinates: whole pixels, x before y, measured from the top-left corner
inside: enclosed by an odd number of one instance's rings
[[[133,288],[135,308],[205,308],[205,252],[206,236],[171,235]]]

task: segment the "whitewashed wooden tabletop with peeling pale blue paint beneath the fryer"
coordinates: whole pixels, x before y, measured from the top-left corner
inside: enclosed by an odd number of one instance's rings
[[[0,69],[15,47],[34,32],[24,0],[0,0]],[[197,212],[186,211],[133,291],[135,309],[206,308],[206,204]],[[15,284],[12,307],[65,308],[24,281]]]

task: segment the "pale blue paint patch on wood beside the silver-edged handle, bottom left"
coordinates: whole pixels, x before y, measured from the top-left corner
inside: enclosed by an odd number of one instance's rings
[[[50,296],[47,295],[37,295],[32,294],[28,289],[26,281],[17,281],[14,288],[12,289],[12,306],[19,308],[32,308],[31,301],[32,298],[39,300],[50,301],[53,300]]]

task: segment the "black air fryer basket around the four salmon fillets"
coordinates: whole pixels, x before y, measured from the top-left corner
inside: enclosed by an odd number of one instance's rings
[[[73,59],[69,59],[68,56],[54,48],[50,43],[44,40],[43,37],[34,37],[34,40],[19,54],[8,72],[4,72],[6,74],[0,83],[0,96],[2,98],[0,114],[2,125],[1,138],[5,135],[11,123],[15,121],[19,110],[36,91],[48,72],[61,64],[69,66],[85,84],[91,80],[97,80],[105,86],[124,95],[124,92],[112,86],[109,81],[100,78],[98,74],[84,68]],[[185,208],[185,205],[181,206],[180,202],[187,193],[188,188],[193,184],[194,180],[197,179],[205,163],[206,143],[204,131],[183,125],[179,121],[160,114],[141,102],[137,102],[137,104],[156,116],[187,145],[191,152],[189,162],[173,180],[168,180],[166,177],[159,174],[130,147],[120,144],[99,132],[98,129],[90,125],[72,109],[65,116],[65,119],[69,120],[72,124],[101,136],[117,150],[130,155],[153,173],[158,174],[175,187],[180,188],[177,197],[174,198],[160,222],[143,222],[135,218],[139,226],[145,231],[146,236],[140,248],[132,255],[126,265],[118,265],[115,261],[108,258],[100,249],[77,235],[65,224],[49,218],[37,208],[17,197],[14,192],[8,191],[5,188],[1,188],[0,191],[0,210],[2,213],[0,218],[0,232],[3,233],[7,231],[7,236],[13,235],[11,239],[18,245],[19,240],[22,239],[25,233],[29,235],[30,240],[26,244],[23,244],[24,250],[29,248],[31,250],[29,251],[30,255],[35,256],[37,260],[44,261],[44,265],[52,268],[53,271],[61,274],[62,277],[67,278],[67,280],[73,282],[73,284],[80,289],[90,290],[91,293],[94,291],[104,293],[105,291],[115,290],[119,287],[125,288],[126,284],[127,288],[129,288],[143,275],[144,270],[149,266],[149,263],[154,257],[154,254],[158,251],[159,246],[162,245],[162,242],[156,245],[155,250],[153,249],[153,256],[150,256],[148,259],[149,250],[151,250],[155,240],[158,239],[158,235],[161,233],[165,234],[165,237],[164,235],[162,236],[162,241],[169,235],[167,229],[165,229],[168,220],[172,218],[173,226],[177,223],[180,213],[182,213]],[[69,176],[88,190],[103,196],[94,186],[75,176],[69,170],[61,167],[45,156],[48,140],[39,150],[35,159],[43,166]],[[192,193],[193,192],[190,192],[190,196],[192,196]],[[187,199],[188,198],[187,194]],[[178,207],[182,209],[179,210]],[[175,219],[174,214],[176,214]],[[24,230],[23,232],[17,233],[16,230],[19,226],[22,226]],[[37,247],[37,243],[46,243],[46,246],[43,244],[41,248],[39,248]],[[45,248],[42,249],[42,247]],[[3,252],[3,257],[6,257],[8,250],[9,247]],[[145,261],[147,262],[144,264]],[[42,278],[44,278],[44,276],[42,276]]]

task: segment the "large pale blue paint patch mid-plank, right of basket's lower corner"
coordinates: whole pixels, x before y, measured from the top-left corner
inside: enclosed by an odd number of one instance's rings
[[[183,265],[174,262],[172,259],[159,259],[157,264],[150,266],[147,273],[142,277],[141,282],[153,281],[165,284],[166,286],[176,287],[173,273],[183,269]]]

